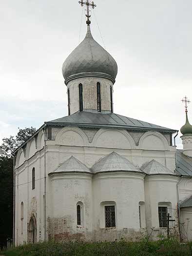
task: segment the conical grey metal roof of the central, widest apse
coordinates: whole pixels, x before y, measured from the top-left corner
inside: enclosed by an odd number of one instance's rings
[[[129,171],[142,173],[142,171],[137,169],[127,158],[124,158],[115,152],[96,162],[91,169],[93,173],[113,171]]]

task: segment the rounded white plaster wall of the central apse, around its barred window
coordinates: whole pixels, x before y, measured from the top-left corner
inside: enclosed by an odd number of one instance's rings
[[[144,176],[142,173],[130,172],[98,173],[94,176],[93,219],[96,241],[114,241],[119,237],[131,238],[131,236],[134,239],[138,236],[139,202],[145,200]],[[105,228],[106,205],[115,205],[115,228]]]

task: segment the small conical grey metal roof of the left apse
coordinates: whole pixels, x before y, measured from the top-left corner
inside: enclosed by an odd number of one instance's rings
[[[91,173],[90,169],[83,163],[81,163],[77,158],[71,157],[62,163],[54,173],[60,172],[86,172]]]

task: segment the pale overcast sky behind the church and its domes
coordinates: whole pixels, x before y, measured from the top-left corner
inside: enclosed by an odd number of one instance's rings
[[[92,34],[118,64],[115,113],[179,130],[181,99],[192,99],[192,0],[95,3]],[[85,36],[81,15],[78,0],[0,0],[0,141],[67,115],[61,68]]]

